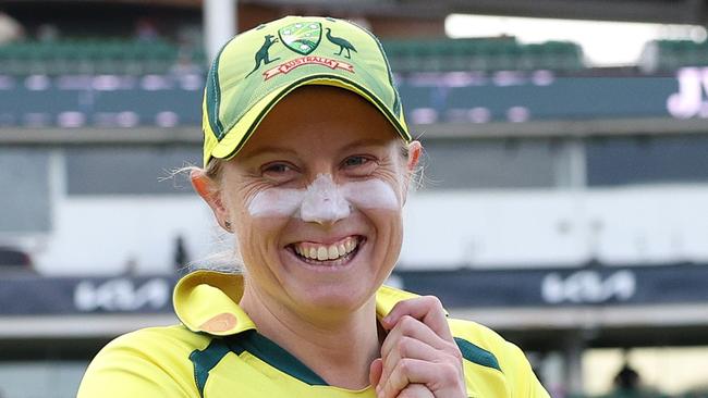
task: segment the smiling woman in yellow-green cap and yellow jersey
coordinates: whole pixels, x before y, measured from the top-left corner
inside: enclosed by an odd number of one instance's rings
[[[80,397],[548,397],[515,346],[382,287],[422,147],[374,36],[294,16],[241,34],[203,127],[192,183],[243,273],[183,277],[182,324],[109,344]]]

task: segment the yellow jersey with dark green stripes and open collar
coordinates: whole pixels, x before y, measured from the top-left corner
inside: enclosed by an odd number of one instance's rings
[[[182,324],[141,329],[108,344],[89,364],[77,397],[376,397],[370,386],[328,385],[260,335],[237,304],[242,294],[239,274],[203,270],[184,276],[173,295]],[[381,287],[377,315],[412,297]],[[468,397],[549,397],[516,346],[474,322],[450,319],[449,324],[464,357]]]

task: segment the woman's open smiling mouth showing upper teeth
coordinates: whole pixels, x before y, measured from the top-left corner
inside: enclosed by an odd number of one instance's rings
[[[286,246],[298,260],[319,266],[337,266],[347,264],[366,242],[361,235],[347,236],[333,244],[325,245],[312,241],[300,241]]]

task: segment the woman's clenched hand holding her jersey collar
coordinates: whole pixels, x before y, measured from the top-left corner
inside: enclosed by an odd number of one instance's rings
[[[466,397],[462,353],[438,298],[401,301],[381,326],[389,334],[369,369],[377,397]]]

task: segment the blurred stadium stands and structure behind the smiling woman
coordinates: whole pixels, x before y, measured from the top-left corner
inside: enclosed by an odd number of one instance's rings
[[[554,397],[608,394],[624,365],[708,396],[705,29],[611,67],[572,41],[445,34],[453,13],[701,27],[706,5],[0,2],[0,397],[72,397],[108,340],[175,322],[181,270],[224,249],[170,177],[200,162],[208,54],[230,23],[285,14],[381,37],[426,147],[392,284],[518,343]]]

